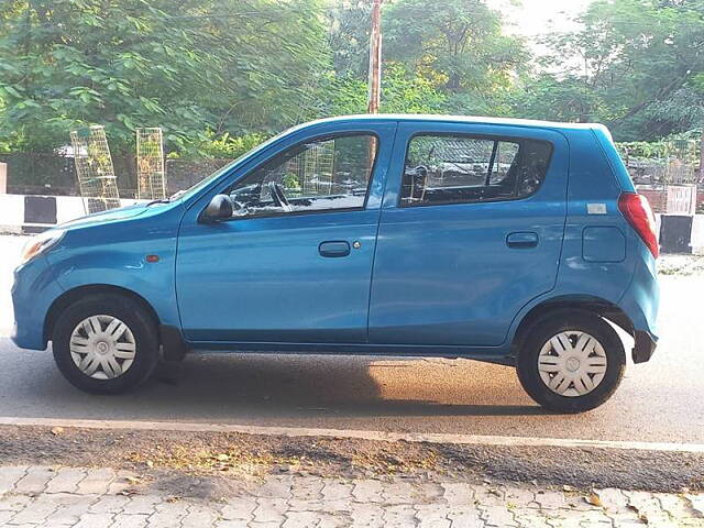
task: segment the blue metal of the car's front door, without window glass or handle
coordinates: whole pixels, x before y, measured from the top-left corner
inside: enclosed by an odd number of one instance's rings
[[[279,150],[350,127],[300,130]],[[363,210],[198,222],[212,195],[184,216],[176,261],[182,324],[190,341],[366,342],[370,280],[380,205],[396,123],[365,122],[353,130],[380,140],[370,197]],[[223,178],[215,193],[271,158],[262,152]],[[320,256],[321,243],[358,242],[344,258]],[[207,255],[207,256],[206,256]]]

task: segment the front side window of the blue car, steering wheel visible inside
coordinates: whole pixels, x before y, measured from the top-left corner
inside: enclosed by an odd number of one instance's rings
[[[377,140],[371,134],[326,138],[288,148],[233,185],[235,217],[361,209]]]

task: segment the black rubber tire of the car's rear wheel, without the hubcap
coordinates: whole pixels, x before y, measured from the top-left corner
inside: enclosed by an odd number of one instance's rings
[[[558,394],[543,382],[538,369],[542,346],[551,338],[570,331],[588,333],[601,343],[606,355],[604,377],[591,392],[583,395]],[[516,370],[524,389],[543,408],[558,413],[583,413],[602,405],[618,388],[626,370],[626,354],[614,328],[600,316],[586,311],[564,310],[551,312],[531,324],[522,341]],[[573,383],[568,383],[568,389],[574,393],[576,385]],[[584,387],[582,389],[584,391]]]

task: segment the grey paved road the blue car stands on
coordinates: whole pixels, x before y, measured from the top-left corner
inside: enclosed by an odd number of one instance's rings
[[[0,328],[12,320],[21,240],[0,238]],[[385,431],[704,443],[704,276],[663,276],[661,345],[629,365],[605,406],[543,414],[512,369],[472,361],[323,355],[191,356],[176,383],[96,397],[69,386],[47,352],[0,338],[0,416],[185,420]]]

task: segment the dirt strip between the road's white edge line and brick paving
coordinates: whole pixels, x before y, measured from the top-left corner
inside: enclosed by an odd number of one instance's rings
[[[135,471],[141,479],[179,496],[217,495],[222,487],[276,473],[490,479],[581,490],[704,490],[704,454],[213,432],[6,426],[0,428],[0,464],[109,465]]]

